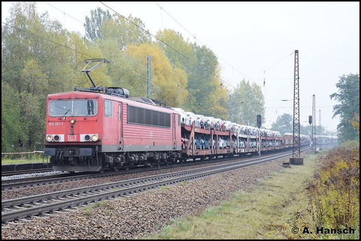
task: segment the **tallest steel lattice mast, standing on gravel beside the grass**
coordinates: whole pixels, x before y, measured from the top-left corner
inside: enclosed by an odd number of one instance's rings
[[[284,163],[287,164],[287,163]],[[293,144],[292,158],[289,164],[303,165],[304,158],[301,158],[301,143],[299,138],[299,62],[298,50],[295,50],[295,79],[293,85]]]

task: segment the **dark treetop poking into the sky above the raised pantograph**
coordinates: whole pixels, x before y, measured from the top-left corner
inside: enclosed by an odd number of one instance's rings
[[[101,36],[101,25],[104,21],[107,21],[111,18],[109,11],[103,11],[101,8],[96,8],[96,10],[90,11],[90,18],[85,16],[85,38],[90,41],[94,41],[97,38],[102,38]]]

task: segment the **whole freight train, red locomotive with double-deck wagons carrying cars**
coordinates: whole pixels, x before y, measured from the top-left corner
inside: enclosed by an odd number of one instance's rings
[[[53,170],[102,172],[292,147],[277,131],[201,128],[161,101],[92,84],[46,98],[44,155]]]

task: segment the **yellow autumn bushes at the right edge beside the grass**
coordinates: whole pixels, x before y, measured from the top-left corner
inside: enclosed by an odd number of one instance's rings
[[[310,212],[317,227],[358,227],[360,222],[360,147],[338,147],[321,157],[308,183]]]

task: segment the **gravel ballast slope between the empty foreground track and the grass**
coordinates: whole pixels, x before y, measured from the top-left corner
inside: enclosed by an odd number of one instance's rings
[[[282,170],[283,157],[272,162],[211,175],[115,201],[87,210],[34,218],[24,225],[2,225],[2,239],[124,239],[160,231],[173,218],[197,214],[248,188],[257,179]]]

